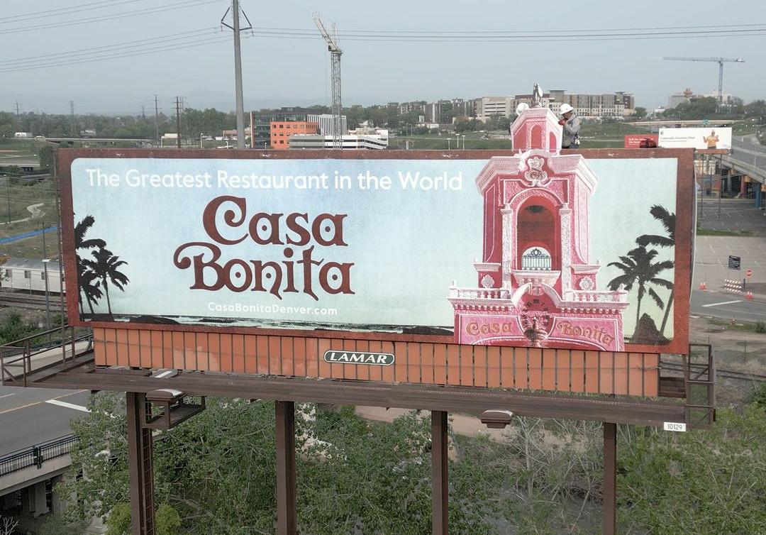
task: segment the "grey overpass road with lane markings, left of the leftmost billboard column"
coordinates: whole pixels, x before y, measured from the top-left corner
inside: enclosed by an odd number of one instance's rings
[[[0,455],[69,434],[69,421],[85,414],[88,396],[87,390],[0,386]]]

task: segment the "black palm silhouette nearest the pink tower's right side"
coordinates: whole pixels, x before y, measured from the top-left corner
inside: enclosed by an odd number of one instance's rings
[[[654,300],[658,307],[664,307],[663,300],[650,284],[656,284],[657,286],[665,288],[673,287],[672,282],[657,277],[660,272],[672,268],[673,261],[665,260],[661,262],[653,262],[657,254],[655,249],[647,251],[646,247],[640,245],[639,247],[628,251],[626,256],[621,256],[619,262],[610,262],[608,264],[623,271],[623,274],[619,277],[614,277],[614,279],[609,281],[608,287],[610,290],[617,290],[620,286],[624,286],[626,290],[630,290],[633,288],[633,284],[638,286],[636,330],[639,328],[638,322],[641,317],[641,300],[644,295],[649,294],[649,297]]]

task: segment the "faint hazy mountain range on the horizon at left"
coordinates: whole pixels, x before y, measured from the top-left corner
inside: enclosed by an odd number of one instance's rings
[[[234,91],[231,94],[226,91],[197,89],[182,95],[186,107],[195,109],[215,108],[221,111],[234,111]],[[159,110],[161,113],[170,115],[175,110],[175,95],[159,95]],[[154,113],[154,95],[140,94],[31,94],[0,92],[0,111],[15,113],[15,101],[18,99],[19,108],[25,112],[44,112],[53,114],[68,114],[70,112],[69,101],[74,100],[74,113],[84,115],[95,113],[100,115],[140,115],[141,107],[144,107],[146,115]],[[386,100],[371,100],[370,97],[355,99],[345,97],[344,104],[359,103],[371,104],[385,102]],[[290,98],[290,97],[244,97],[244,109],[260,110],[261,108],[279,108],[283,106],[311,106],[313,104],[328,105],[325,97],[318,98]]]

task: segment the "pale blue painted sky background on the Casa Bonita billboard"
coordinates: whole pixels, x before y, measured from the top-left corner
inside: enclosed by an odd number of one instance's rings
[[[482,202],[475,177],[483,160],[201,160],[201,159],[77,159],[72,168],[75,219],[93,215],[88,237],[103,238],[107,247],[128,261],[123,268],[130,283],[125,293],[111,292],[116,313],[226,316],[208,311],[208,302],[283,304],[315,307],[306,294],[283,294],[280,302],[271,294],[223,289],[218,292],[189,290],[191,269],[172,264],[173,253],[189,241],[211,241],[201,225],[205,205],[216,195],[228,193],[247,198],[248,214],[256,212],[346,213],[343,232],[349,247],[317,247],[314,258],[355,262],[352,290],[355,295],[319,294],[319,305],[334,307],[339,323],[389,323],[449,326],[452,310],[447,302],[451,281],[476,286],[473,259],[482,251]],[[599,288],[620,274],[607,267],[633,248],[645,233],[663,233],[649,214],[653,204],[675,210],[676,161],[673,159],[591,160],[597,189],[591,199],[591,262],[604,266],[597,277]],[[125,176],[127,169],[142,172],[211,172],[231,174],[333,174],[357,176],[368,170],[388,175],[389,191],[280,190],[263,189],[168,189],[95,187],[88,184],[85,169]],[[434,176],[463,175],[462,191],[402,190],[398,171],[419,170]],[[241,235],[241,233],[240,233]],[[233,237],[234,235],[231,235]],[[241,245],[221,246],[222,259],[283,260],[283,247],[258,246],[249,239]],[[296,248],[296,258],[302,248]],[[672,258],[663,251],[662,258]],[[672,274],[666,272],[672,280]],[[300,276],[298,278],[300,281]],[[299,285],[300,287],[300,285]],[[316,288],[316,284],[315,284]],[[664,291],[664,290],[663,290]],[[661,294],[662,292],[660,292]],[[105,310],[106,305],[101,308]],[[631,307],[625,314],[625,332],[632,332]],[[660,314],[648,300],[643,310]],[[231,317],[235,317],[231,314]],[[295,317],[272,316],[277,319]],[[661,317],[661,314],[660,314]],[[306,319],[306,318],[299,318]],[[319,319],[319,318],[309,318]],[[329,320],[322,317],[321,320]],[[659,323],[659,322],[658,322]]]

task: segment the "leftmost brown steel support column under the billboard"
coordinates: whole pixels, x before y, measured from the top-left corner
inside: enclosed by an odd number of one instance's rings
[[[132,535],[154,535],[152,430],[142,428],[146,395],[127,392],[128,469]]]

